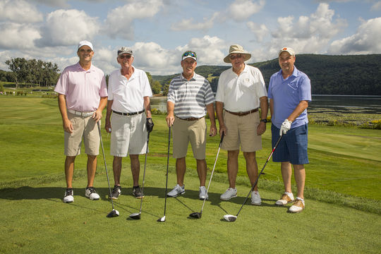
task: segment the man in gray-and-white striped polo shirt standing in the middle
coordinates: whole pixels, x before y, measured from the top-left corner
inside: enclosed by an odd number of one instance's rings
[[[177,184],[167,195],[177,197],[185,193],[183,181],[186,173],[186,153],[188,143],[191,142],[200,179],[199,198],[204,200],[207,195],[205,188],[206,112],[210,116],[210,136],[216,135],[217,128],[214,119],[212,87],[206,78],[195,73],[196,66],[195,52],[184,52],[181,58],[183,73],[172,79],[169,84],[166,121],[168,126],[173,126],[173,154],[176,158]]]

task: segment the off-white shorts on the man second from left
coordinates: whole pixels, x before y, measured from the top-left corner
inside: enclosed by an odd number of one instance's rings
[[[111,116],[110,154],[117,157],[142,155],[147,149],[145,114]]]

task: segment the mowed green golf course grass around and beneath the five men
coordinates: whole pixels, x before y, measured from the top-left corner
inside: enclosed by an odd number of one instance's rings
[[[63,131],[56,99],[0,97],[0,253],[380,253],[380,131],[309,126],[310,164],[306,165],[306,210],[288,214],[275,207],[282,192],[279,164],[269,162],[260,179],[260,207],[248,205],[236,214],[250,186],[240,155],[238,197],[219,200],[226,184],[226,152],[221,151],[201,219],[195,162],[188,154],[186,193],[167,199],[163,216],[168,128],[164,116],[153,116],[154,132],[147,158],[145,198],[131,195],[129,159],[123,159],[123,195],[115,207],[121,216],[107,218],[107,178],[102,155],[95,187],[101,200],[85,198],[85,155],[75,162],[72,204],[62,202]],[[109,173],[109,137],[103,132]],[[207,144],[208,180],[219,139]],[[262,168],[270,147],[270,124],[258,152]],[[143,177],[144,157],[141,157]],[[169,160],[169,188],[176,184]],[[112,174],[111,184],[112,181]],[[141,182],[141,179],[140,179]],[[287,206],[288,207],[288,206]],[[354,209],[354,208],[356,209]]]

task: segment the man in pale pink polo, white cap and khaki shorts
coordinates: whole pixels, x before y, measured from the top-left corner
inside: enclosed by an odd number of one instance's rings
[[[102,110],[107,104],[107,86],[103,71],[91,63],[94,56],[92,43],[79,42],[77,55],[79,62],[63,70],[54,89],[59,93],[59,111],[65,134],[67,188],[63,202],[74,201],[71,183],[74,161],[75,157],[80,155],[82,138],[87,154],[85,196],[90,200],[99,200],[93,186],[100,143],[97,121],[102,119]]]

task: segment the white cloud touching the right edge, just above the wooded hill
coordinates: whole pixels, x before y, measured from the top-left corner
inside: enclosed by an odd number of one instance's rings
[[[363,21],[356,34],[335,40],[329,47],[329,54],[380,54],[381,18]]]

